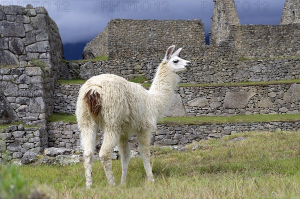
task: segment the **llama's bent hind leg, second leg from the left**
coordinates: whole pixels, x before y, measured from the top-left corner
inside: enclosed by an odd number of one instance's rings
[[[102,162],[105,175],[107,178],[107,182],[109,185],[115,185],[114,184],[114,178],[111,170],[111,153],[113,147],[116,146],[116,143],[119,139],[119,136],[117,133],[104,133],[104,139],[103,143],[99,152],[99,157]]]

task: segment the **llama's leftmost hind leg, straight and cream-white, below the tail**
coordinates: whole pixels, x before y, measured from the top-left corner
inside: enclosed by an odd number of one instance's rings
[[[81,126],[80,142],[83,148],[84,171],[85,171],[85,185],[90,188],[92,185],[92,164],[93,153],[96,145],[96,133],[98,126],[93,123],[90,126]]]

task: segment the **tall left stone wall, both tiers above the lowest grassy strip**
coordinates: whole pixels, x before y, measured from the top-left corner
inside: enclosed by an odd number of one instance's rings
[[[44,7],[0,5],[0,46],[2,94],[21,121],[45,125],[63,58],[56,23]]]

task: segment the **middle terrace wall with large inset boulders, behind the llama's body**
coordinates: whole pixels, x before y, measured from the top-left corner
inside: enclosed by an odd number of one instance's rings
[[[81,85],[55,85],[55,113],[74,114]],[[179,87],[167,116],[299,113],[300,84],[262,86]],[[180,111],[181,110],[181,111]]]

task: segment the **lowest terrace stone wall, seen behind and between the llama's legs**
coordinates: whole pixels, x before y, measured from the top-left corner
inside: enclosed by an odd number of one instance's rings
[[[49,147],[76,149],[80,145],[77,124],[68,122],[51,122],[47,124],[49,131]],[[234,133],[249,131],[298,131],[300,122],[268,122],[268,123],[230,123],[211,125],[157,125],[152,133],[151,145],[172,146],[186,145],[193,141],[209,138],[221,138]],[[100,149],[103,132],[98,131],[96,150]],[[136,136],[129,139],[130,148],[137,147]]]

